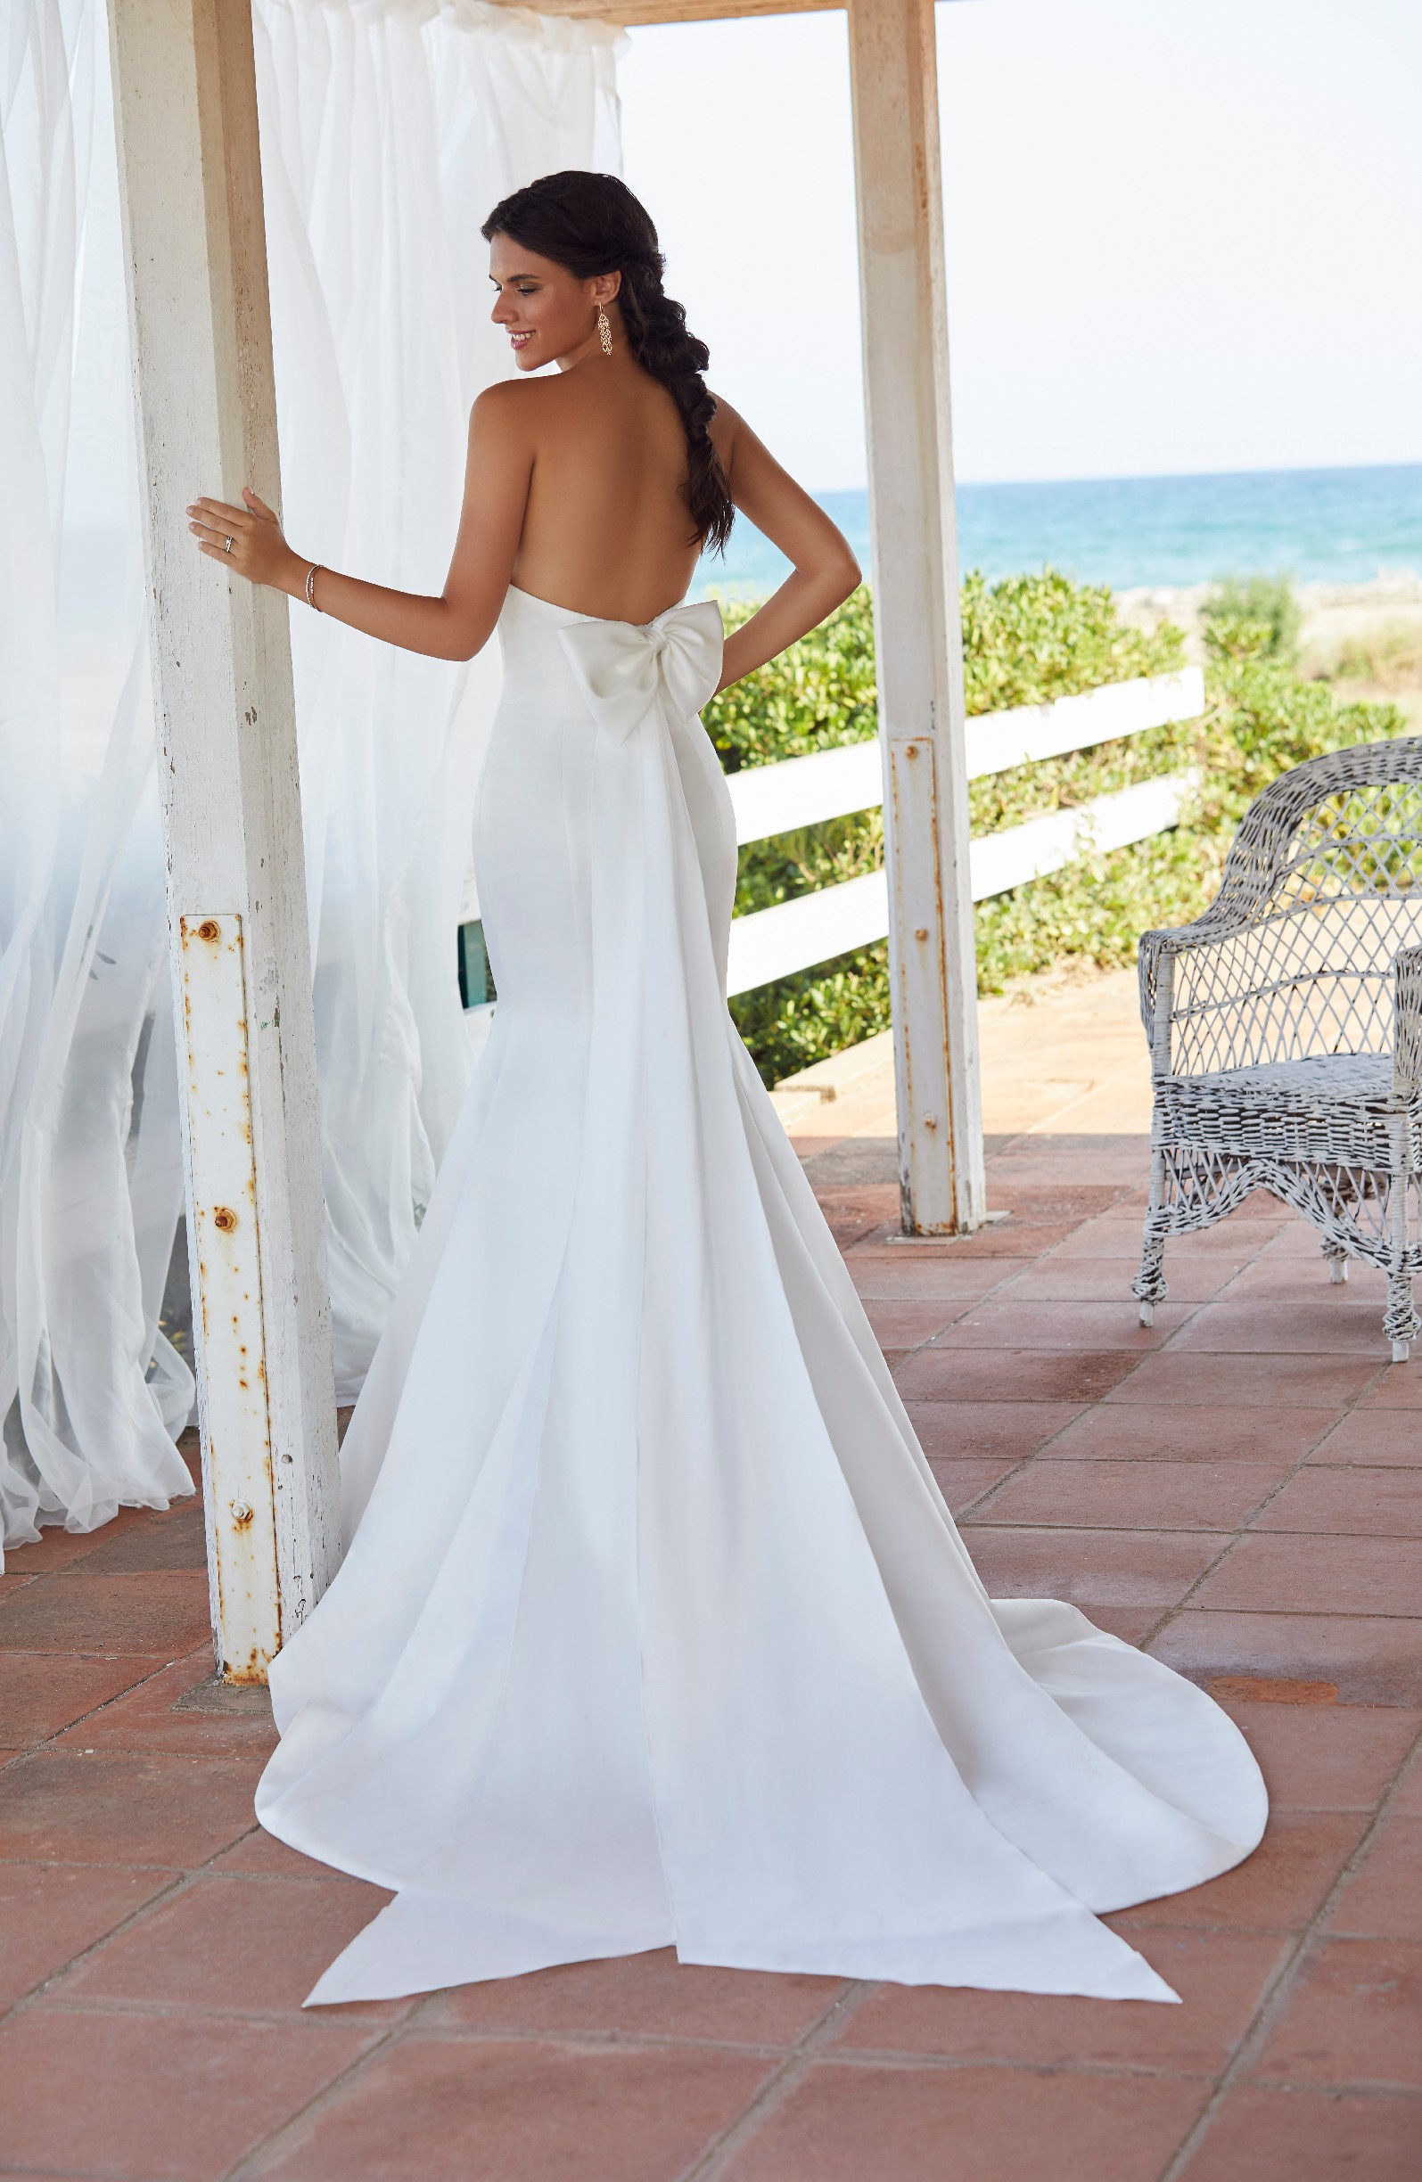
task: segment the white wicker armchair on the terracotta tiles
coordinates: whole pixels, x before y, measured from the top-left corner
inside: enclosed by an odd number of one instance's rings
[[[1422,735],[1311,757],[1250,805],[1219,895],[1141,940],[1156,1113],[1132,1294],[1165,1300],[1165,1242],[1269,1189],[1333,1281],[1387,1272],[1383,1333],[1422,1331]]]

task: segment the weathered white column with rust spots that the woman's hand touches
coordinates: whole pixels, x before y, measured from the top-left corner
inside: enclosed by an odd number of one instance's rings
[[[277,502],[246,0],[109,0],[218,1665],[334,1573],[336,1401],[288,602],[185,506]]]

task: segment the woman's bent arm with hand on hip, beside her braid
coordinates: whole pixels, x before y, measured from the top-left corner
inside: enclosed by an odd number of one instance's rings
[[[781,548],[787,561],[794,561],[781,589],[726,637],[720,679],[724,690],[842,607],[859,583],[859,563],[824,508],[781,469],[750,425],[724,401],[718,401],[711,436],[737,508]]]

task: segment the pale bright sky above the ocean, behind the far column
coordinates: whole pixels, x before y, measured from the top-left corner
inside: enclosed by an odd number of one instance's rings
[[[1422,0],[955,0],[938,70],[962,478],[1422,460]],[[861,484],[844,17],[619,81],[711,384]]]

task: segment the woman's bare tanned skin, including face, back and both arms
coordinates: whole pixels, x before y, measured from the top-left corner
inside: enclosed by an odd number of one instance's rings
[[[632,353],[617,301],[622,277],[576,279],[495,233],[491,279],[493,316],[521,375],[473,404],[465,506],[438,598],[314,570],[251,491],[244,508],[201,500],[188,511],[203,552],[222,559],[229,576],[273,583],[371,637],[436,659],[478,652],[510,585],[554,607],[635,624],[685,598],[700,554],[689,428],[670,384]],[[558,369],[547,373],[545,364]],[[792,563],[774,598],[728,635],[724,687],[814,628],[859,570],[824,511],[735,410],[707,399],[698,375],[691,388],[702,415],[713,404],[698,430],[711,439],[728,500]]]

